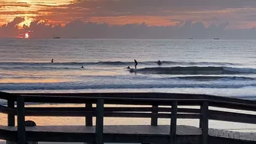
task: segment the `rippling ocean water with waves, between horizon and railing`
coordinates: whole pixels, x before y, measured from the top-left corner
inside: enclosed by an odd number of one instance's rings
[[[254,99],[255,58],[256,40],[0,39],[0,91],[149,91]],[[136,71],[126,69],[134,68],[134,59]]]

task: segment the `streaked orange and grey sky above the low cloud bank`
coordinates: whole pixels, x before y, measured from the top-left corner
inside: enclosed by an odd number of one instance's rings
[[[207,1],[207,2],[206,2]],[[213,2],[213,3],[211,3]],[[231,28],[256,25],[251,0],[0,0],[0,25],[16,17],[29,26],[39,19],[65,25],[77,19],[107,24],[168,26],[184,21],[203,24],[230,22]]]

